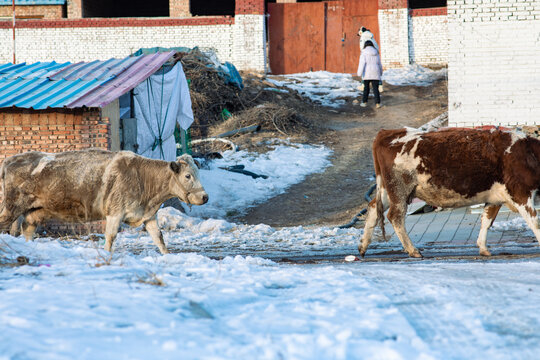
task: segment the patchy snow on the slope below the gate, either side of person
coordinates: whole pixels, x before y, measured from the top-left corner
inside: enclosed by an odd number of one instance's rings
[[[388,69],[383,73],[383,81],[392,85],[431,85],[435,80],[447,76],[447,70],[431,70],[414,64],[403,68]],[[313,71],[290,75],[273,75],[267,78],[272,84],[298,91],[315,103],[338,108],[345,105],[346,98],[357,98],[361,95],[360,82],[351,74]],[[273,89],[282,91],[282,89]],[[372,94],[370,94],[372,95]]]

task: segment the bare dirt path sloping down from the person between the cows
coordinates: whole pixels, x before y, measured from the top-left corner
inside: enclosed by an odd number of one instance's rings
[[[382,128],[418,127],[446,111],[447,84],[441,80],[430,87],[385,85],[382,102],[380,109],[373,104],[350,104],[339,113],[318,109],[316,121],[323,130],[308,141],[331,148],[332,165],[234,221],[275,227],[349,222],[366,206],[364,194],[373,183],[371,143],[376,133]]]

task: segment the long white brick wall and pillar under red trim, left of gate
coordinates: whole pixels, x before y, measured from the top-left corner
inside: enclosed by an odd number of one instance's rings
[[[23,28],[16,31],[17,62],[122,58],[142,47],[212,48],[241,70],[265,71],[263,15],[236,15],[233,25]],[[0,62],[11,62],[12,30],[0,29]]]

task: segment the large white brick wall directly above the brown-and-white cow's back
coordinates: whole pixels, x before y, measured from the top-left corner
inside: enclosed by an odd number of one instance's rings
[[[540,0],[450,0],[449,124],[540,124]]]

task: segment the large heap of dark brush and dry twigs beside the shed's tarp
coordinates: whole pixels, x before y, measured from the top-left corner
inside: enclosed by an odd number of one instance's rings
[[[287,90],[286,94],[276,92],[275,88],[271,88],[274,85],[253,74],[242,75],[242,90],[226,84],[213,67],[209,55],[197,48],[187,53],[177,53],[175,60],[181,61],[190,82],[195,120],[191,126],[193,139],[215,136],[253,124],[286,136],[309,128],[308,122],[291,107],[296,108],[297,104],[305,101],[295,91],[290,90],[289,93]]]

